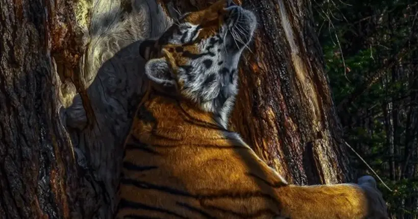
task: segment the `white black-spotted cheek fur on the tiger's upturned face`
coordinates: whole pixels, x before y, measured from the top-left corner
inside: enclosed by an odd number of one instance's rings
[[[199,46],[169,45],[176,59],[176,77],[180,92],[202,106],[205,111],[222,112],[237,94],[240,52],[228,51],[225,39],[216,34]]]

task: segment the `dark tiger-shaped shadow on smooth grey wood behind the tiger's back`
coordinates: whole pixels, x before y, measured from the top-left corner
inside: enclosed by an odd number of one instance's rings
[[[142,69],[139,42],[122,48],[97,71],[87,88],[94,121],[89,125],[80,96],[66,109],[65,120],[78,161],[90,169],[96,188],[102,189],[98,218],[110,218],[120,175],[122,144],[141,100]],[[84,158],[83,158],[84,156]]]

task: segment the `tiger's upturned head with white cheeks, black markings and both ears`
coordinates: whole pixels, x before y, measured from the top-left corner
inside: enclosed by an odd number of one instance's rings
[[[232,0],[186,13],[158,39],[141,43],[145,74],[158,87],[213,112],[225,127],[237,94],[238,61],[256,23],[251,11]]]

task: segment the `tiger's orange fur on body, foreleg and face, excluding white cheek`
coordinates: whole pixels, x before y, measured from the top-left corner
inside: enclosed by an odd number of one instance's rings
[[[199,35],[208,37],[216,34],[224,7],[220,0],[185,19],[209,23]],[[180,46],[199,54],[194,44]],[[178,47],[162,45],[158,52],[174,75],[188,61]],[[154,88],[139,104],[125,142],[116,218],[387,218],[373,183],[288,185],[214,113],[181,92]]]

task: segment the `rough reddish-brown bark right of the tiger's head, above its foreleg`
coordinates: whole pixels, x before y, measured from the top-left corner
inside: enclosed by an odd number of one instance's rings
[[[183,12],[210,4],[173,2]],[[232,127],[289,182],[352,180],[310,2],[236,2],[257,14],[259,27],[241,60]]]

